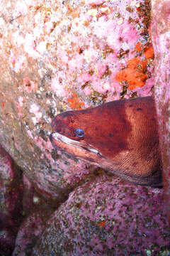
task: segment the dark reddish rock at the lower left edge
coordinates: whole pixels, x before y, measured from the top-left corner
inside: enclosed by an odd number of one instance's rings
[[[0,255],[11,255],[14,249],[23,220],[22,198],[22,172],[0,145]]]

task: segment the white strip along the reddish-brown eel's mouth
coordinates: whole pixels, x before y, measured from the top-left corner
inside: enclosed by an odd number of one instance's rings
[[[66,144],[69,144],[71,146],[76,146],[77,148],[79,149],[85,149],[87,151],[91,151],[95,154],[97,154],[98,156],[102,156],[97,149],[93,149],[91,148],[91,146],[88,146],[82,142],[77,142],[76,140],[74,139],[69,139],[68,137],[62,135],[62,134],[59,134],[58,132],[53,132],[52,133],[52,137],[57,140],[58,142],[64,142]]]

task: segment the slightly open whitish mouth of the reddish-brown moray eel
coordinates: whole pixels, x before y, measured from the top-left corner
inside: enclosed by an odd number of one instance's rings
[[[92,152],[92,153],[96,154],[97,156],[103,157],[102,154],[97,149],[92,148],[90,145],[84,144],[84,143],[79,142],[79,141],[74,140],[74,139],[70,139],[69,137],[66,137],[66,136],[64,136],[64,135],[62,135],[58,132],[52,132],[50,134],[50,141],[52,142],[52,144],[54,144],[53,143],[54,139],[57,142],[62,142],[64,144],[67,144],[68,146],[73,146],[73,147],[76,147],[78,149],[83,149],[85,151]],[[57,146],[55,146],[55,147],[57,147]]]

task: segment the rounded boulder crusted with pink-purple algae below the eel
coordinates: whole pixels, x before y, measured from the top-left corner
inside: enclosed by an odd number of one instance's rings
[[[70,193],[32,255],[169,255],[169,239],[162,190],[98,177]]]

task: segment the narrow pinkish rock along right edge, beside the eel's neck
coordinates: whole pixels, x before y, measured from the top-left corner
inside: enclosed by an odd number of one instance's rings
[[[152,39],[154,43],[154,93],[162,152],[164,197],[170,226],[170,4],[152,1]]]

